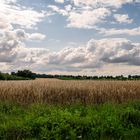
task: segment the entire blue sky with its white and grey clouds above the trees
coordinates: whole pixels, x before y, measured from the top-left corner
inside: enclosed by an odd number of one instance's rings
[[[0,71],[140,74],[140,0],[0,0]]]

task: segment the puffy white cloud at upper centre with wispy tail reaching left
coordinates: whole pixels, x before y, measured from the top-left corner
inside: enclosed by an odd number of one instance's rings
[[[75,10],[70,5],[61,9],[55,5],[49,5],[54,12],[67,17],[67,27],[93,28],[97,23],[104,22],[111,13],[106,8]],[[83,20],[84,19],[84,20]]]

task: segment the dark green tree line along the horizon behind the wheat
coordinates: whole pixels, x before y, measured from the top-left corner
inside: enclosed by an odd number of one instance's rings
[[[57,78],[62,80],[140,80],[140,75],[128,76],[81,76],[81,75],[50,75],[38,74],[30,70],[18,70],[17,72],[1,73],[0,80],[34,80],[36,78]]]

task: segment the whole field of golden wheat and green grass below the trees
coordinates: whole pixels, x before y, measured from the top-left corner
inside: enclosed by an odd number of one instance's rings
[[[0,81],[2,140],[138,140],[140,81]]]

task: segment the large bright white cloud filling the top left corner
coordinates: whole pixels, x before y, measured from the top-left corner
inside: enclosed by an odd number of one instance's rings
[[[45,12],[23,7],[15,0],[2,0],[0,4],[0,29],[11,29],[12,25],[34,28],[45,16],[47,16]]]

